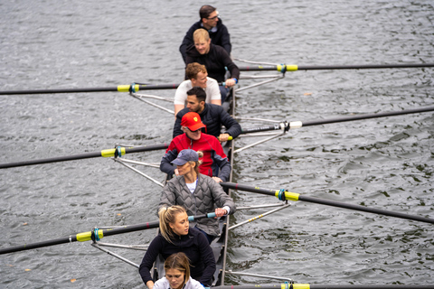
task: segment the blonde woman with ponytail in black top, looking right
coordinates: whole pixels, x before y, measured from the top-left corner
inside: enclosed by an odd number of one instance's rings
[[[158,212],[160,233],[147,248],[138,272],[149,289],[154,282],[150,274],[158,254],[165,259],[174,253],[183,252],[190,260],[190,274],[201,284],[210,287],[215,271],[215,260],[212,249],[196,228],[190,228],[188,216],[181,206],[163,208]]]

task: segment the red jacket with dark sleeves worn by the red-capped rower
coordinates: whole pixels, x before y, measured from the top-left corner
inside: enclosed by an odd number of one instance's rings
[[[199,172],[210,177],[218,176],[223,182],[229,181],[231,163],[223,152],[222,144],[215,136],[203,133],[197,141],[185,134],[176,136],[165,151],[165,156],[161,159],[160,170],[173,175],[175,166],[171,162],[175,160],[179,152],[187,148],[203,153],[203,158],[200,159],[202,164],[199,166]]]

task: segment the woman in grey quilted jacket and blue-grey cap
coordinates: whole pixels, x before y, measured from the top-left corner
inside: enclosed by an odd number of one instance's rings
[[[180,205],[187,210],[188,215],[201,215],[214,212],[216,217],[233,214],[235,203],[222,186],[212,181],[207,175],[199,172],[202,152],[191,149],[182,150],[172,162],[176,164],[178,175],[165,184],[160,195],[158,210]],[[195,225],[205,234],[208,242],[220,234],[218,219],[198,219]]]

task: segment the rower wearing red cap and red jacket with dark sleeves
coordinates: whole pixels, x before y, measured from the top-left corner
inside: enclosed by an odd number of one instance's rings
[[[200,88],[198,88],[200,89]],[[203,89],[201,89],[203,91]],[[218,107],[218,106],[217,106]],[[177,135],[165,151],[161,159],[160,170],[169,175],[179,175],[177,169],[171,164],[179,152],[184,149],[192,149],[203,153],[201,173],[212,177],[215,182],[227,182],[231,175],[231,163],[223,152],[222,144],[216,137],[203,134],[201,128],[206,127],[201,117],[195,112],[187,112],[181,119],[183,135]]]

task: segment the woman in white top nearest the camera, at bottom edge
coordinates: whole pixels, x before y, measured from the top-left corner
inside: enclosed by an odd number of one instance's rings
[[[172,254],[165,259],[165,277],[156,281],[154,289],[203,289],[203,285],[190,277],[190,262],[184,253]]]

